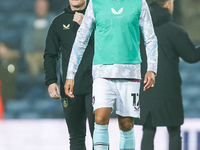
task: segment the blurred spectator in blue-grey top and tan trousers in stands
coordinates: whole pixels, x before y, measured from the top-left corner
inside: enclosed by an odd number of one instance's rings
[[[36,0],[35,15],[28,18],[22,38],[25,61],[29,73],[33,77],[43,72],[45,39],[53,17],[54,15],[49,13],[49,2],[47,0]]]

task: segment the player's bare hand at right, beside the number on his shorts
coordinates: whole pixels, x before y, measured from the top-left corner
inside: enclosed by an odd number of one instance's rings
[[[144,88],[143,91],[146,91],[150,88],[153,88],[155,85],[155,73],[153,71],[147,71],[144,77]]]

